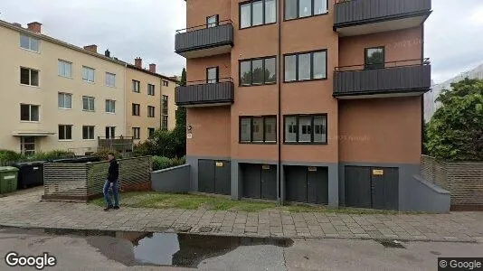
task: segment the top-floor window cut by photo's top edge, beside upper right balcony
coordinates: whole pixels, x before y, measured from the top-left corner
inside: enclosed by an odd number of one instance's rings
[[[327,0],[285,0],[285,20],[327,14]]]

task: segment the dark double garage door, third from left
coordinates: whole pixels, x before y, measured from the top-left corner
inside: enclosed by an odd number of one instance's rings
[[[284,170],[287,201],[328,203],[326,167],[286,166]]]

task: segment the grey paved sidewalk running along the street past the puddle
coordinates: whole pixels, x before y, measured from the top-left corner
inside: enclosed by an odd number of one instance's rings
[[[0,198],[0,226],[193,233],[287,238],[394,238],[483,242],[483,212],[354,215],[323,212],[158,210],[105,212],[85,203],[40,201],[42,188]]]

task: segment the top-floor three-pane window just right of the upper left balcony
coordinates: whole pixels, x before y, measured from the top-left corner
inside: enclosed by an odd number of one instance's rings
[[[275,0],[259,0],[240,5],[240,28],[276,22]]]

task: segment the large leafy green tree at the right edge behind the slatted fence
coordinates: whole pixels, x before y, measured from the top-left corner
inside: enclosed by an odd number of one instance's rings
[[[463,79],[443,89],[426,130],[428,154],[439,159],[483,160],[483,80]]]

